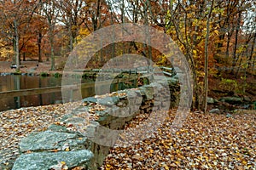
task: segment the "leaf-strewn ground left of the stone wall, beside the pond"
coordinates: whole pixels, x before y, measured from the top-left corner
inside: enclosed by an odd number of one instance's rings
[[[44,131],[72,106],[67,103],[0,112],[0,165],[8,167],[19,155],[20,139],[33,131]]]

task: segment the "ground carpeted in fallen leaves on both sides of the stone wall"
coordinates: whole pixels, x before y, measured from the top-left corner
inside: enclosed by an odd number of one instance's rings
[[[0,112],[0,163],[8,165],[19,154],[20,139],[58,122],[73,104],[65,106]],[[151,138],[113,147],[102,169],[256,169],[255,111],[231,116],[191,112],[183,127],[172,133],[174,116],[170,111]],[[126,128],[146,119],[148,114],[137,116]]]

